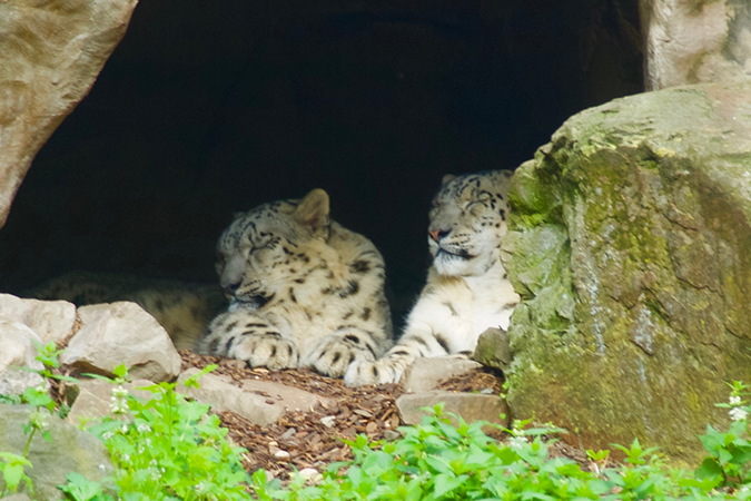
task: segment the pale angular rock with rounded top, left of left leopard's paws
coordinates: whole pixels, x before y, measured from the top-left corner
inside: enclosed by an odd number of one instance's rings
[[[81,328],[60,362],[107,376],[125,363],[130,377],[158,383],[180,373],[180,355],[167,331],[136,303],[81,306],[78,314]]]

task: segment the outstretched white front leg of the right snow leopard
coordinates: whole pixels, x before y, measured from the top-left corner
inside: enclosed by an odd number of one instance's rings
[[[349,365],[344,382],[347,386],[398,383],[412,363],[423,356],[452,353],[444,336],[426,323],[411,322],[398,344],[377,361],[358,361]]]

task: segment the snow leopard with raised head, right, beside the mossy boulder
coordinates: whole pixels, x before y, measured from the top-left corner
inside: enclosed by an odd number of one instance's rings
[[[500,258],[510,170],[445,176],[429,212],[427,284],[386,355],[349,366],[345,383],[395,383],[421,356],[471,355],[488,327],[507,328],[520,297]]]

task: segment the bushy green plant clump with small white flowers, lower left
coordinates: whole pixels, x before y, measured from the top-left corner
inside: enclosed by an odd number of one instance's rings
[[[206,367],[182,384],[197,387],[197,379],[215,367]],[[241,466],[245,450],[229,445],[227,430],[208,413],[208,405],[176,392],[177,383],[140,389],[151,392],[151,399],[142,402],[122,389],[125,366],[115,374],[112,415],[91,431],[112,454],[116,471],[110,488],[118,498],[247,499],[247,473]],[[93,492],[93,487],[87,489]]]

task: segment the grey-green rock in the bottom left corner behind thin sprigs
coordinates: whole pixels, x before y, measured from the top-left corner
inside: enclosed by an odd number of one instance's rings
[[[0,404],[0,451],[23,453],[28,438],[22,430],[31,411],[28,405]],[[27,469],[26,473],[33,483],[34,499],[62,499],[57,487],[67,482],[66,475],[70,472],[78,472],[95,482],[112,472],[110,454],[99,439],[57,415],[49,415],[48,421],[51,442],[37,434],[29,448],[28,459],[33,468]],[[0,475],[0,492],[2,487]]]

